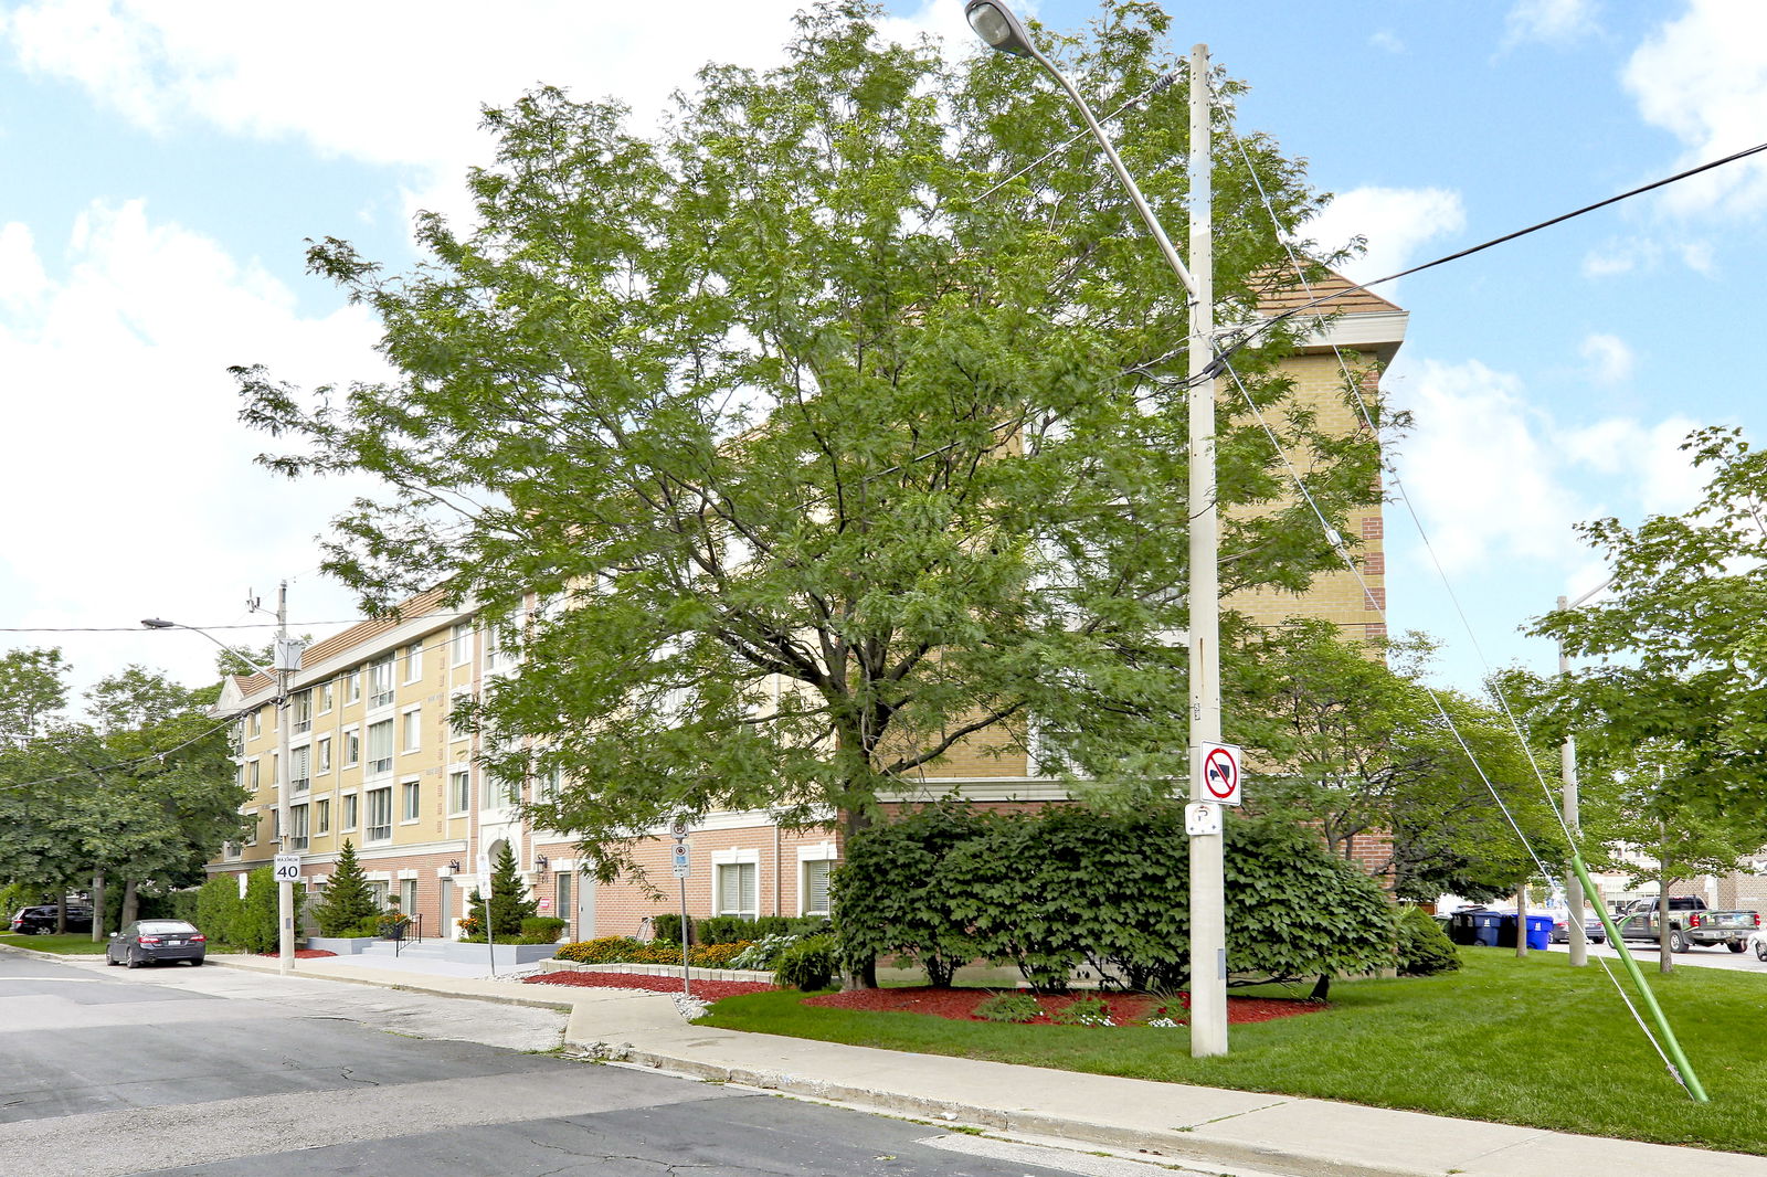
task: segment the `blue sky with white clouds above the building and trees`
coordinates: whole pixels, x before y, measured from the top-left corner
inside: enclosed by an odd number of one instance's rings
[[[383,375],[307,240],[410,267],[413,212],[458,216],[489,157],[481,106],[560,85],[656,125],[705,62],[777,64],[795,9],[0,0],[0,649],[60,645],[81,684],[143,663],[194,686],[209,642],[127,629],[262,645],[247,597],[274,610],[279,581],[297,633],[355,619],[316,537],[369,488],[256,467],[272,442],[226,371]],[[885,28],[967,53],[961,9],[891,0]],[[1020,11],[1074,32],[1096,5]],[[1175,51],[1205,42],[1251,87],[1239,127],[1334,194],[1309,233],[1366,239],[1359,281],[1767,140],[1755,0],[1170,11]],[[1521,627],[1606,578],[1574,525],[1691,505],[1696,426],[1767,442],[1763,207],[1767,164],[1744,161],[1378,288],[1410,311],[1385,387],[1415,415],[1391,454],[1389,622],[1442,643],[1444,680],[1553,670]]]

